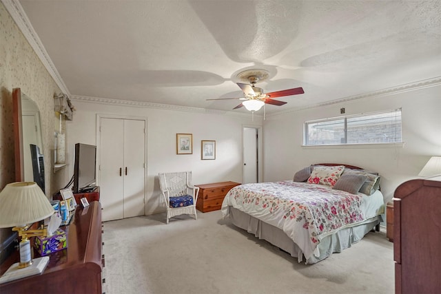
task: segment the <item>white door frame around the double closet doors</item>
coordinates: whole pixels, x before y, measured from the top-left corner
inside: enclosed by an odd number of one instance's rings
[[[148,174],[148,158],[147,158],[147,126],[148,126],[148,118],[145,116],[126,116],[126,115],[119,115],[119,114],[96,114],[96,185],[99,186],[99,172],[100,172],[100,127],[101,127],[101,118],[114,118],[114,119],[127,119],[127,120],[143,120],[144,121],[144,158],[145,158],[145,168],[144,168],[144,214],[146,211],[146,204],[147,204],[147,174]]]

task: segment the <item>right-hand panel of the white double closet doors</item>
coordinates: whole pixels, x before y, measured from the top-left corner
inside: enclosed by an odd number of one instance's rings
[[[124,120],[124,218],[144,215],[145,122]]]

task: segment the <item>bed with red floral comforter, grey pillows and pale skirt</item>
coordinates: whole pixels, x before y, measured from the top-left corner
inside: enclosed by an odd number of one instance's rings
[[[378,174],[318,164],[293,180],[236,186],[221,211],[236,227],[314,264],[379,231],[384,199]]]

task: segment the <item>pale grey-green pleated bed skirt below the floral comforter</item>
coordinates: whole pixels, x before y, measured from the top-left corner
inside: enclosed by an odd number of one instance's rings
[[[324,260],[332,253],[339,253],[349,248],[351,244],[360,241],[382,220],[381,216],[376,216],[354,227],[340,229],[332,235],[327,235],[318,244],[320,255],[313,255],[308,260],[305,260],[302,250],[281,229],[249,216],[247,213],[234,207],[229,207],[229,218],[236,227],[244,229],[248,233],[253,233],[257,238],[278,246],[278,248],[286,251],[292,257],[297,258],[298,262],[305,262],[306,264],[314,264]]]

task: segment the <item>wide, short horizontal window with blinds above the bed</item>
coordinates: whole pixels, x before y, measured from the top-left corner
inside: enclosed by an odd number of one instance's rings
[[[401,142],[401,109],[305,123],[305,145]]]

